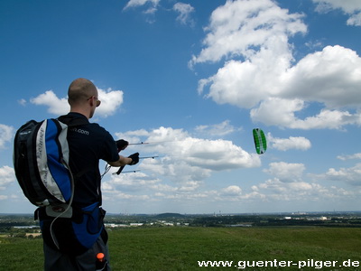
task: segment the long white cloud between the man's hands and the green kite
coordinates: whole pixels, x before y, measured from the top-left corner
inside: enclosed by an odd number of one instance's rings
[[[151,131],[137,130],[116,134],[129,142],[149,143],[142,145],[141,156],[159,155],[156,159],[144,159],[138,166],[151,176],[177,183],[177,192],[193,191],[211,173],[231,169],[260,166],[258,155],[249,154],[227,140],[207,140],[190,136],[182,129],[159,127]],[[127,153],[139,150],[130,145]],[[133,178],[135,175],[130,175]],[[164,183],[159,183],[164,184]]]

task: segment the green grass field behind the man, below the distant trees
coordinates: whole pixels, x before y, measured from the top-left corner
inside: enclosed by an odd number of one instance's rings
[[[42,270],[42,239],[0,238],[0,270]],[[359,228],[129,228],[109,231],[113,270],[361,270]],[[281,261],[306,265],[274,266]],[[199,267],[199,261],[233,261]],[[266,262],[267,266],[265,266]],[[322,261],[322,262],[320,262]],[[348,266],[340,266],[345,262]],[[307,264],[313,267],[307,267]],[[285,263],[285,262],[284,262]],[[241,262],[243,266],[244,262]],[[273,266],[271,266],[273,264]],[[354,265],[354,267],[352,267]]]

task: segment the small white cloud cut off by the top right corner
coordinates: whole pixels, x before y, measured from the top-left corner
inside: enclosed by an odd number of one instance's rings
[[[333,9],[341,9],[350,17],[347,19],[348,25],[361,26],[361,2],[359,0],[313,0],[317,4],[316,11],[328,13]]]

